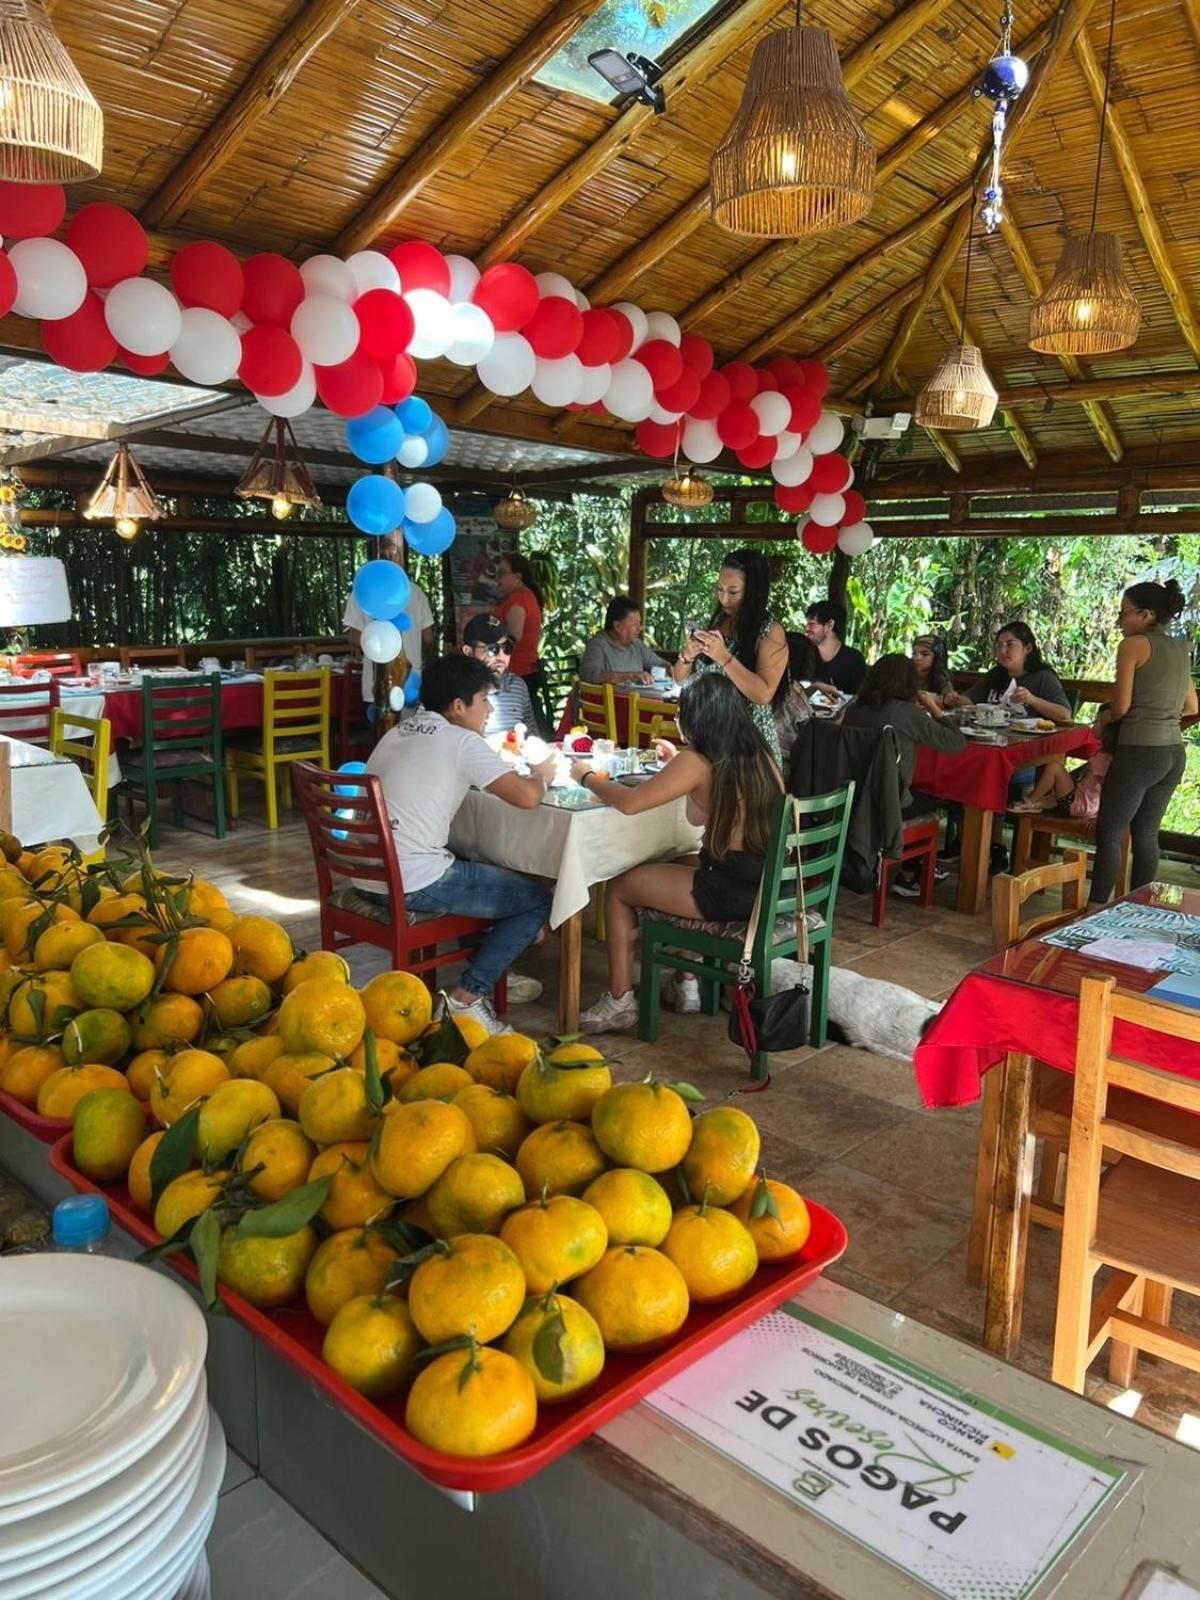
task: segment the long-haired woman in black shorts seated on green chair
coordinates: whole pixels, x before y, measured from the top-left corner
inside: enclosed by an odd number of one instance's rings
[[[605,893],[608,925],[608,989],[579,1016],[586,1034],[616,1034],[637,1022],[634,942],[637,909],[669,912],[696,922],[744,922],[754,910],[766,859],[771,808],[782,778],[731,680],[704,672],[683,685],[678,706],[686,749],[666,741],[666,765],[629,787],[574,762],[571,776],[589,794],[626,816],[653,811],[683,798],[688,821],[704,824],[699,856],[632,867]],[[694,986],[677,982],[677,1010],[691,1003]],[[680,1005],[680,1000],[683,1003]]]

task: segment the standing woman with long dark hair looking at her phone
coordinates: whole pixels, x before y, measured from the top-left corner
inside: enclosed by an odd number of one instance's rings
[[[677,683],[696,672],[723,672],[746,699],[766,749],[781,762],[771,702],[787,669],[787,640],[770,613],[770,589],[766,557],[758,550],[723,555],[709,626],[688,635],[672,672]]]

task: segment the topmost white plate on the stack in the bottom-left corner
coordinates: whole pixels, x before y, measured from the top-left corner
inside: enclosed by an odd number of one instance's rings
[[[200,1309],[149,1267],[0,1262],[0,1514],[144,1454],[192,1398],[206,1347]]]

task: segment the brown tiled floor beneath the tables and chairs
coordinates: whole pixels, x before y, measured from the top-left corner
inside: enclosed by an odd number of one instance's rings
[[[267,832],[251,811],[221,843],[200,832],[166,829],[158,859],[221,885],[230,904],[283,922],[298,946],[320,944],[307,837],[294,821]],[[1178,875],[1195,882],[1187,867]],[[1165,875],[1171,875],[1170,869]],[[843,894],[837,907],[834,962],[874,978],[944,998],[990,954],[987,917],[954,910],[954,877],[939,885],[938,904],[922,910],[893,896],[883,928],[872,928],[870,902]],[[358,949],[350,965],[358,982],[387,965],[382,952]],[[550,936],[520,963],[546,982],[544,997],[514,1008],[523,1032],[554,1030],[557,944]],[[605,987],[603,949],[584,939],[584,1002]],[[746,1058],[725,1035],[725,1016],[674,1016],[664,1008],[659,1042],[629,1035],[608,1042],[619,1077],[653,1072],[694,1083],[710,1101],[746,1086]],[[963,1278],[978,1112],[926,1112],[910,1069],[846,1045],[774,1056],[770,1091],[747,1101],[763,1128],[763,1158],[773,1176],[797,1184],[843,1218],[850,1250],[834,1277],[898,1310],[976,1342],[982,1291]],[[1032,1230],[1026,1283],[1024,1338],[1018,1362],[1050,1374],[1058,1238]],[[1186,1325],[1179,1306],[1176,1323]],[[1200,1315],[1197,1326],[1200,1333]],[[1117,1400],[1126,1414],[1200,1445],[1200,1378],[1142,1358],[1136,1395],[1118,1394],[1099,1376],[1091,1390]],[[1138,1398],[1141,1397],[1141,1398]]]

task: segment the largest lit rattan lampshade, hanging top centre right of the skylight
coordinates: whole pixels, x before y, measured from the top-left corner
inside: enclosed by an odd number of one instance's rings
[[[758,43],[710,184],[715,221],[762,238],[824,234],[870,208],[875,146],[829,29],[782,27]]]

